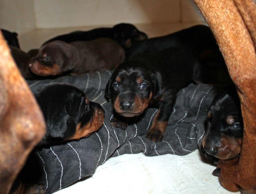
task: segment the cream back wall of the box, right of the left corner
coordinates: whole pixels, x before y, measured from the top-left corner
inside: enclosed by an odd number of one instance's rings
[[[34,0],[38,28],[203,21],[192,0]]]

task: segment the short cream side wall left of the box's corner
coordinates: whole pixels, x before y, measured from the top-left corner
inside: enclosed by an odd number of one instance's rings
[[[18,34],[36,28],[33,0],[0,0],[0,28]]]

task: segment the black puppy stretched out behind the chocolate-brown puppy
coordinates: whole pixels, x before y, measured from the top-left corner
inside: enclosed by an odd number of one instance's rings
[[[113,28],[96,28],[89,31],[74,31],[59,35],[46,41],[43,45],[56,40],[70,43],[75,41],[91,41],[98,38],[110,38],[123,48],[129,48],[134,42],[146,40],[147,35],[139,31],[132,24],[120,23]]]

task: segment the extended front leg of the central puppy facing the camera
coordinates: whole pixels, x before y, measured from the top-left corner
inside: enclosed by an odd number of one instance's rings
[[[158,111],[146,137],[154,142],[161,141],[166,130],[169,117],[176,101],[176,91],[170,90],[162,94],[158,101]]]

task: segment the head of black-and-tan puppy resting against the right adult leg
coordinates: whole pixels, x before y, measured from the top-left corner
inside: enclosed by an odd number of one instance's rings
[[[243,123],[236,90],[226,90],[217,95],[208,112],[204,150],[216,158],[230,159],[240,154]]]

